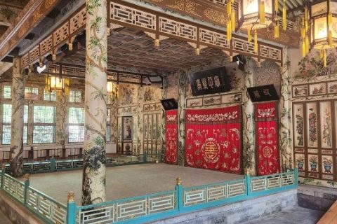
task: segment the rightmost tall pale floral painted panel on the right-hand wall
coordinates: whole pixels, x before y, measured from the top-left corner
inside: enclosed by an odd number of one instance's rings
[[[321,147],[332,148],[331,102],[320,102]]]

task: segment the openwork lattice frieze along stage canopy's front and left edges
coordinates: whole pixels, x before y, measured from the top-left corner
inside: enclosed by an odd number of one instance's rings
[[[248,55],[256,58],[258,62],[270,59],[283,64],[281,47],[258,41],[259,50],[253,52],[253,43],[246,38],[233,35],[232,41],[227,41],[225,31],[212,29],[195,22],[182,20],[166,13],[159,13],[132,3],[121,0],[108,1],[108,27],[131,27],[153,36],[154,39],[175,38],[186,41],[195,48],[217,48],[226,52],[228,56]],[[21,57],[21,66],[25,68],[48,54],[55,52],[65,43],[72,43],[77,34],[85,29],[86,8],[82,6],[57,29],[47,34],[47,37],[32,45],[29,52]],[[260,35],[260,34],[259,34]],[[262,35],[261,35],[262,36]],[[282,36],[282,35],[280,35]]]

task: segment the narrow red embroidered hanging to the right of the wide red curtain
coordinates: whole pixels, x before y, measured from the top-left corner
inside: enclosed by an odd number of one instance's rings
[[[258,175],[279,173],[277,102],[255,104]]]

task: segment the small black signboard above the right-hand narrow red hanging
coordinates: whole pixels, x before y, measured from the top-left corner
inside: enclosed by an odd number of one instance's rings
[[[279,100],[274,85],[261,85],[247,88],[251,102]]]

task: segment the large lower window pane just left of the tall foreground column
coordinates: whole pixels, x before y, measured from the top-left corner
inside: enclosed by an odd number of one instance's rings
[[[84,108],[70,107],[68,132],[69,142],[84,141]]]

